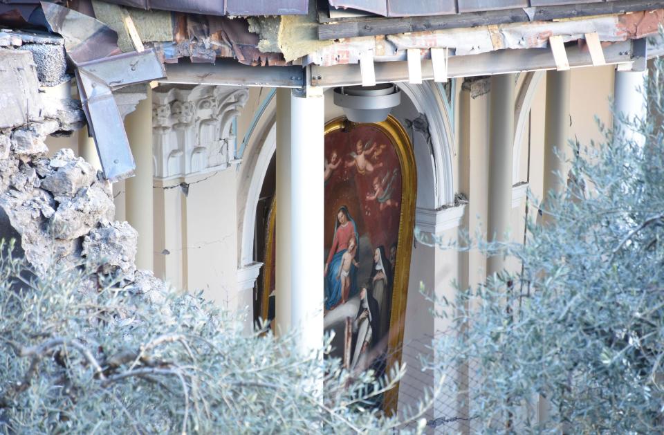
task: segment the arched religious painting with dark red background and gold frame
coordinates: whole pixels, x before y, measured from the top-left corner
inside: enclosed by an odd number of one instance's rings
[[[324,327],[330,356],[351,373],[379,376],[400,362],[412,250],[416,172],[412,145],[396,118],[325,126]],[[272,320],[274,208],[266,238],[261,314]],[[398,389],[376,405],[396,409]]]

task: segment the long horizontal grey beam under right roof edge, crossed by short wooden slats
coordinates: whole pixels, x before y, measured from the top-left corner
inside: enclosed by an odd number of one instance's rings
[[[618,41],[604,48],[607,64],[631,62],[633,41]],[[578,46],[566,49],[571,68],[592,66],[593,59],[588,50]],[[408,62],[375,62],[376,83],[407,82]],[[524,50],[499,50],[479,55],[450,56],[448,77],[474,77],[479,75],[505,74],[524,71],[555,69],[556,64],[548,48]],[[432,80],[434,71],[430,60],[422,61],[422,78]],[[313,86],[350,86],[361,84],[360,66],[357,64],[334,66],[311,66]]]

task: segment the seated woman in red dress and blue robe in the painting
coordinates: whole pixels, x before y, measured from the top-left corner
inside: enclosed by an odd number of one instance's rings
[[[334,224],[334,238],[332,239],[332,246],[325,262],[325,309],[331,310],[339,304],[342,295],[342,280],[340,278],[340,268],[342,266],[342,257],[348,250],[349,241],[355,237],[356,246],[360,246],[360,238],[358,237],[358,228],[355,221],[348,212],[345,205],[339,208],[337,212],[337,221]],[[358,259],[356,254],[356,260]],[[348,291],[349,296],[356,293],[358,286],[357,268],[355,265],[350,265],[350,270],[347,272],[350,278],[350,288]]]

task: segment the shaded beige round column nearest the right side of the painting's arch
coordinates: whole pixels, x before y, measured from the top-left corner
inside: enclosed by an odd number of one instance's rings
[[[514,140],[515,75],[491,77],[489,120],[489,189],[487,237],[505,241],[512,211],[512,146]],[[505,268],[501,255],[486,261],[487,275]]]

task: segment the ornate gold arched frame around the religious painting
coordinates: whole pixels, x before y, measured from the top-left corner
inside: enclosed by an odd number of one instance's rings
[[[357,122],[351,122],[345,117],[335,118],[325,124],[324,134],[340,129],[353,129]],[[367,125],[367,124],[361,124]],[[392,145],[399,158],[401,165],[401,209],[399,216],[399,235],[396,248],[396,265],[394,266],[394,283],[392,284],[391,313],[389,316],[389,337],[387,338],[387,369],[395,362],[401,363],[401,350],[403,346],[403,331],[405,328],[406,301],[408,298],[408,279],[410,274],[410,257],[413,249],[413,232],[415,223],[415,201],[417,192],[417,172],[415,166],[415,155],[412,142],[403,126],[394,116],[389,115],[382,122],[371,122],[369,125],[376,127],[390,138]],[[275,234],[276,197],[270,207],[268,219],[268,233],[266,236],[267,246],[273,243]],[[270,273],[272,269],[272,249],[266,249],[264,272]],[[322,277],[321,277],[322,279]],[[261,313],[267,319],[270,290],[270,275],[263,279],[263,297]],[[398,290],[398,291],[397,291]],[[400,328],[392,326],[400,325]],[[385,394],[384,409],[388,414],[396,411],[399,394],[398,384]]]

